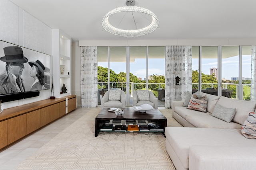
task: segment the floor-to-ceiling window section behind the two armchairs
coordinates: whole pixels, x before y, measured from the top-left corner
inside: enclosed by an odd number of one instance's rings
[[[127,106],[132,106],[134,90],[151,90],[156,98],[159,90],[164,92],[165,47],[98,47],[97,51],[98,104],[104,90],[108,89],[129,93],[126,95]],[[129,80],[126,80],[127,76]],[[164,95],[161,95],[158,106],[164,106]]]

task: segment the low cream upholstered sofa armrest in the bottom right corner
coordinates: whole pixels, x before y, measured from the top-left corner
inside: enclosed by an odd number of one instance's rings
[[[253,146],[191,146],[189,170],[253,170],[255,152]]]

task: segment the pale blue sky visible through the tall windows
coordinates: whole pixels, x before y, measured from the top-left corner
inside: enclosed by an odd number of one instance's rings
[[[251,56],[243,55],[242,77],[251,77]],[[107,63],[98,63],[98,66],[108,67]],[[218,68],[217,59],[202,59],[202,72],[210,74],[210,68]],[[222,78],[231,80],[231,77],[238,77],[238,56],[222,59]],[[117,74],[126,72],[126,63],[110,63],[110,68]],[[192,70],[198,70],[198,59],[192,59]],[[130,63],[130,72],[142,80],[146,77],[146,59],[135,59]],[[165,74],[165,59],[149,59],[148,75]]]

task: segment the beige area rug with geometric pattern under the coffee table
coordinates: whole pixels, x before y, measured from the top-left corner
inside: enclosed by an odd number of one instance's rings
[[[168,126],[181,126],[172,118],[171,109],[160,111]],[[99,112],[100,108],[91,108],[16,169],[175,170],[162,133],[100,132],[95,137]]]

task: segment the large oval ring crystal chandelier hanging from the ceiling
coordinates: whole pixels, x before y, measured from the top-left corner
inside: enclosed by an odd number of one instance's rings
[[[148,10],[146,8],[134,6],[135,5],[134,0],[127,0],[126,5],[127,6],[121,6],[119,8],[115,8],[114,10],[111,10],[104,16],[104,18],[102,20],[102,27],[106,31],[108,31],[114,35],[119,35],[119,36],[124,36],[124,37],[138,37],[138,36],[142,36],[142,35],[151,33],[157,29],[158,19],[153,12],[151,12],[150,10]],[[141,29],[134,29],[134,30],[119,29],[119,28],[111,25],[109,23],[108,19],[110,16],[120,13],[120,12],[141,12],[141,13],[150,15],[152,18],[152,21],[148,26],[141,28]],[[134,20],[134,24],[136,25],[134,18],[133,18],[133,20]]]

